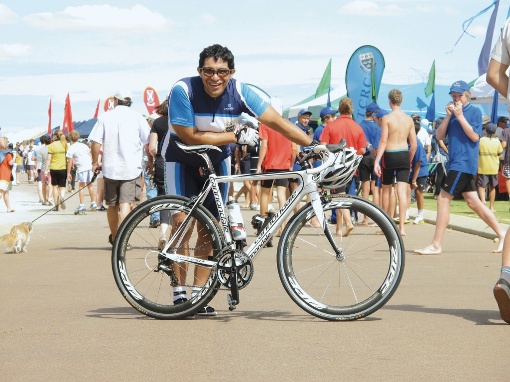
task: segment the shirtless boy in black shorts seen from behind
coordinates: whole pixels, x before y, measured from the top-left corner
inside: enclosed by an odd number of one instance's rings
[[[407,182],[411,172],[411,158],[416,151],[416,132],[413,119],[402,112],[402,93],[393,89],[388,94],[392,112],[382,117],[381,139],[374,172],[381,178],[382,209],[390,214],[390,193],[393,177],[397,178],[398,213],[400,234],[405,235],[405,210],[407,208]],[[411,147],[407,144],[409,140]],[[382,169],[379,160],[382,158]]]

